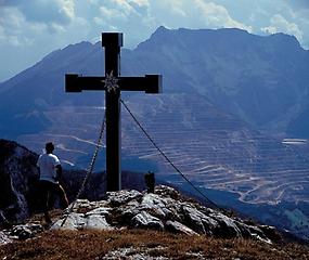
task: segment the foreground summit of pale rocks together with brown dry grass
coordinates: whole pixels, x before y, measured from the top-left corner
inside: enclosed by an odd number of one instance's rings
[[[272,226],[210,209],[172,187],[123,190],[79,199],[44,230],[35,222],[0,232],[0,259],[308,259],[308,247]],[[15,240],[18,240],[15,243]]]

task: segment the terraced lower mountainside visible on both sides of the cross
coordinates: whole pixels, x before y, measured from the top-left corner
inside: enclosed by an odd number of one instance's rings
[[[237,193],[244,203],[309,202],[309,160],[307,153],[296,150],[293,142],[254,131],[198,95],[136,95],[127,104],[158,146],[196,184]],[[104,109],[60,109],[61,114],[57,109],[47,114],[53,128],[23,135],[18,141],[39,150],[46,140],[55,140],[64,160],[86,166]],[[104,159],[103,148],[100,166],[104,167]],[[128,170],[152,169],[165,180],[182,181],[125,109],[123,159]]]

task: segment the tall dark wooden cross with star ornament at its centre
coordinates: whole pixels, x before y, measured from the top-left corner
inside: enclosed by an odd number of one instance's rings
[[[103,32],[102,47],[105,48],[105,77],[82,77],[76,74],[66,74],[65,91],[105,90],[106,190],[112,192],[121,190],[120,92],[127,90],[159,93],[162,92],[162,75],[119,77],[123,34]]]

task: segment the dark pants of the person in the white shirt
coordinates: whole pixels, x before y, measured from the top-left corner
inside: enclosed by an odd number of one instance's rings
[[[53,183],[50,181],[40,181],[40,190],[41,190],[41,196],[43,202],[43,211],[44,211],[44,218],[48,223],[51,223],[51,218],[49,216],[49,209],[52,205],[50,205],[51,196],[56,195],[60,198],[60,206],[62,209],[67,208],[68,200],[65,194],[65,191],[59,183]]]

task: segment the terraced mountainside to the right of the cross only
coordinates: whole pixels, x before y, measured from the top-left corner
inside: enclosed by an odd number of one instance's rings
[[[147,105],[152,106],[149,98]],[[196,96],[165,96],[140,115],[157,144],[185,174],[215,190],[233,191],[246,203],[308,202],[309,161],[291,144],[255,132],[233,116],[220,114]],[[146,110],[131,106],[138,110]],[[153,102],[154,103],[154,102]],[[192,120],[188,120],[192,118]],[[152,132],[155,129],[155,132]],[[158,162],[162,174],[175,174],[133,126],[124,146],[131,156]]]

